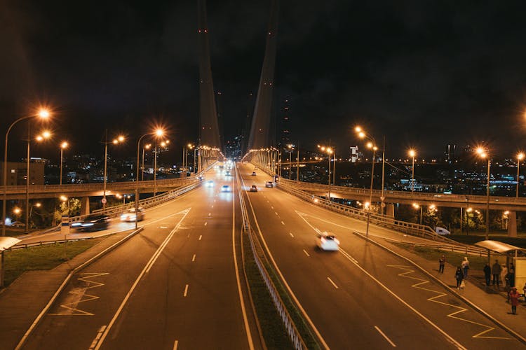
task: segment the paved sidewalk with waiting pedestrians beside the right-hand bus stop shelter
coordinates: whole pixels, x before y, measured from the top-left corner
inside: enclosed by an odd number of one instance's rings
[[[446,263],[444,273],[440,274],[438,273],[438,261],[426,260],[420,255],[399,248],[381,238],[375,238],[374,240],[386,248],[409,258],[429,272],[429,274],[436,277],[436,279],[449,286],[452,293],[465,297],[485,311],[486,314],[492,316],[492,318],[511,328],[511,330],[514,330],[522,337],[526,337],[526,302],[522,302],[521,297],[517,307],[517,314],[511,314],[511,304],[506,302],[507,295],[504,288],[501,286],[500,290],[497,290],[497,288],[492,286],[486,287],[483,272],[470,269],[468,279],[466,279],[466,288],[457,290],[457,281],[454,279],[454,272],[457,267]],[[522,290],[520,290],[520,293],[522,293]]]

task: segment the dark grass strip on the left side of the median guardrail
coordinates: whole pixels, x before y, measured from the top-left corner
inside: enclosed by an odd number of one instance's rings
[[[243,235],[245,234],[243,233]],[[245,273],[250,286],[252,302],[254,302],[257,319],[267,348],[292,349],[292,342],[290,342],[285,325],[283,325],[283,321],[281,321],[281,317],[274,307],[267,285],[259,274],[248,237],[243,237],[243,252]]]

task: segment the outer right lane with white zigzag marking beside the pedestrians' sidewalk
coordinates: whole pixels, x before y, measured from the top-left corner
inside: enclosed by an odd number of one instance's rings
[[[412,307],[467,348],[495,349],[507,344],[521,345],[406,260],[349,235],[349,230],[342,226],[327,223],[326,219],[318,218],[317,221],[319,227],[325,224],[326,229],[345,237],[340,240],[342,249],[358,260],[361,267],[381,280],[393,293],[410,300]],[[316,225],[316,220],[312,224]]]

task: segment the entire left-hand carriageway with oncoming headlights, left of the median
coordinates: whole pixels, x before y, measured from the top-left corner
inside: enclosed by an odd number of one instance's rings
[[[206,177],[74,275],[24,349],[251,349],[232,178]]]

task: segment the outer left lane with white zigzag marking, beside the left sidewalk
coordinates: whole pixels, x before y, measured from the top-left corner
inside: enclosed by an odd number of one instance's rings
[[[144,228],[114,251],[75,274],[28,339],[26,348],[55,349],[55,344],[62,344],[65,349],[89,346],[97,330],[107,325],[112,310],[118,307],[167,232],[184,216],[177,214],[179,206],[194,202],[198,201],[191,197],[171,202],[171,206],[163,209],[167,214],[165,219],[158,219],[155,225]],[[76,337],[63,337],[64,334],[75,334]]]

